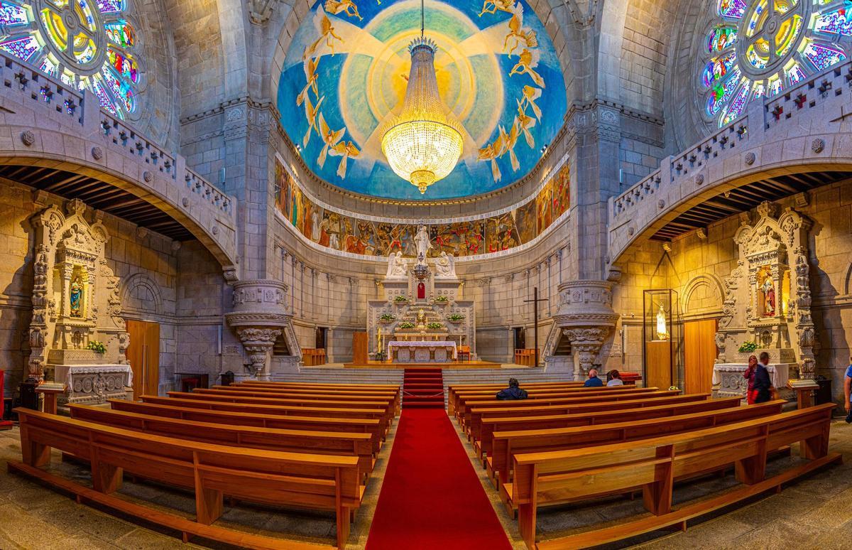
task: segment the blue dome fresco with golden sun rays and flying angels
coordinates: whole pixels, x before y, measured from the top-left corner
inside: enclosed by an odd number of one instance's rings
[[[521,0],[428,0],[425,26],[438,44],[441,99],[463,126],[455,170],[421,195],[382,153],[384,123],[405,96],[420,2],[319,0],[290,44],[278,93],[281,124],[318,177],[360,194],[437,200],[503,188],[538,163],[567,105],[559,60],[533,9]]]

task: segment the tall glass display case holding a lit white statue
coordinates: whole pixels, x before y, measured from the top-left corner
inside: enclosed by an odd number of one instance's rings
[[[646,387],[683,390],[683,320],[677,292],[642,293],[642,373]]]

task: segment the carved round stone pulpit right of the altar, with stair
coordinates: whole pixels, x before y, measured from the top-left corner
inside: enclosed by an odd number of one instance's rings
[[[618,314],[613,311],[612,283],[608,281],[570,281],[559,286],[559,311],[554,316],[555,338],[548,339],[544,359],[556,348],[560,338],[571,342],[574,379],[583,379],[599,359],[603,344],[613,334]],[[560,334],[561,333],[561,334]]]

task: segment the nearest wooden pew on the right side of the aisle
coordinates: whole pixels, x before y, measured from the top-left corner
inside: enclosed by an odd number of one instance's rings
[[[501,491],[518,509],[521,536],[528,548],[594,547],[686,521],[728,507],[808,472],[838,463],[828,452],[833,403],[773,414],[761,419],[688,431],[629,443],[547,453],[515,454],[515,476]],[[801,442],[808,464],[765,478],[771,449]],[[711,499],[672,506],[674,481],[734,465],[744,486]],[[563,537],[536,542],[538,507],[584,501],[641,489],[650,517],[640,517]]]

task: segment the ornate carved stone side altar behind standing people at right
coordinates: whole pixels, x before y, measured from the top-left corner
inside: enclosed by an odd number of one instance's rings
[[[739,257],[725,279],[716,345],[713,390],[719,397],[744,396],[748,357],[769,354],[769,374],[786,397],[790,389],[816,387],[815,326],[811,317],[808,229],[792,208],[777,212],[769,202],[757,218],[740,215],[734,234]]]

